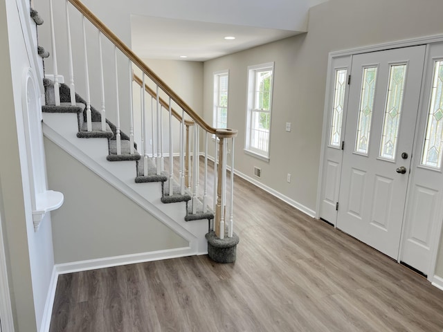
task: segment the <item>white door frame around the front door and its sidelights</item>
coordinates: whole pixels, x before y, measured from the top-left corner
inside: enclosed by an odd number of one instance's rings
[[[322,129],[322,140],[321,140],[321,149],[320,149],[320,163],[319,165],[319,169],[318,169],[318,183],[317,183],[317,200],[316,200],[316,219],[320,219],[320,200],[321,200],[321,190],[322,190],[322,181],[323,181],[323,165],[325,162],[325,149],[327,147],[327,142],[328,142],[328,134],[329,134],[329,122],[328,122],[328,118],[329,118],[329,101],[332,99],[332,84],[334,84],[334,80],[332,79],[332,64],[334,62],[334,59],[338,58],[338,57],[346,57],[346,56],[351,56],[351,63],[352,64],[352,55],[358,55],[361,53],[370,53],[370,52],[377,52],[379,50],[388,50],[391,48],[405,48],[405,47],[409,47],[409,46],[418,46],[418,45],[426,45],[426,53],[425,53],[425,68],[428,65],[427,63],[427,54],[428,54],[428,48],[430,44],[434,44],[434,43],[440,43],[443,42],[443,35],[432,35],[432,36],[426,36],[426,37],[419,37],[419,38],[414,38],[414,39],[406,39],[406,40],[401,40],[401,41],[397,41],[397,42],[390,42],[390,43],[384,43],[384,44],[377,44],[377,45],[371,45],[371,46],[362,46],[359,48],[351,48],[351,49],[347,49],[347,50],[340,50],[340,51],[334,51],[334,52],[330,52],[328,59],[327,59],[327,76],[326,76],[326,86],[325,86],[325,107],[323,109],[323,129]],[[422,86],[424,83],[424,79],[426,77],[422,77]],[[422,106],[422,103],[424,102],[423,97],[424,97],[424,89],[422,89],[422,91],[420,91],[420,100],[419,100],[419,109]],[[347,100],[346,100],[347,102]],[[415,132],[419,132],[417,131],[417,129],[419,128],[419,125],[421,124],[421,122],[419,121],[420,116],[418,116],[417,118],[417,123],[415,126]],[[343,119],[343,121],[345,121],[345,119]],[[344,127],[342,124],[342,135],[344,135]],[[417,146],[417,140],[419,140],[420,138],[415,135],[414,138],[414,147]],[[343,158],[343,155],[342,155]],[[413,156],[412,160],[411,160],[411,165],[413,165],[414,159],[416,158],[416,156]],[[408,190],[409,190],[409,185],[410,183],[408,183]],[[405,211],[408,208],[408,196],[406,197],[406,205],[405,205]],[[405,216],[404,216],[405,219]],[[443,284],[442,281],[443,279],[441,277],[438,277],[435,275],[435,267],[437,265],[437,255],[438,255],[438,248],[440,246],[440,241],[442,241],[440,234],[442,232],[442,219],[437,221],[437,225],[435,225],[436,228],[436,232],[434,235],[434,241],[433,241],[433,248],[431,249],[431,268],[430,271],[431,273],[428,273],[428,281],[433,283],[434,286],[437,286],[439,288],[443,289]],[[336,228],[336,225],[334,225],[334,228]],[[400,248],[399,248],[399,252],[401,252],[402,250],[402,245],[403,245],[403,238],[404,238],[404,227],[402,227],[401,229],[401,237],[400,237]]]

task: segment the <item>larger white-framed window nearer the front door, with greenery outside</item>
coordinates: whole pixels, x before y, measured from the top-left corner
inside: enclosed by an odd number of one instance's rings
[[[273,62],[248,67],[245,151],[267,161],[269,161],[273,71]]]

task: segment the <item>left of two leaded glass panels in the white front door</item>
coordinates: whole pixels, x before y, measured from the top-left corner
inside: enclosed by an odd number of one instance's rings
[[[360,154],[368,154],[376,81],[377,67],[363,68],[363,82],[361,83],[359,107],[359,127],[357,129],[355,142],[355,151]]]

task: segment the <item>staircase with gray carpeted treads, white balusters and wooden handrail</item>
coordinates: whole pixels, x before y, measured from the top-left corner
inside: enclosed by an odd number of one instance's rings
[[[221,240],[234,237],[233,181],[226,183],[226,145],[230,142],[233,147],[237,131],[210,127],[80,1],[60,3],[66,11],[57,9],[52,0],[49,1],[51,36],[46,35],[45,40],[51,39],[52,55],[39,49],[41,56],[46,58],[45,67],[50,64],[52,71],[52,75],[46,76],[50,78],[44,79],[44,135],[188,240],[188,255],[208,252],[205,235],[209,232],[215,232],[217,239]],[[57,6],[60,7],[60,3]],[[78,10],[82,15],[80,28],[70,24],[69,15],[73,10]],[[31,15],[35,20],[35,13]],[[62,15],[59,19],[66,21],[64,28],[57,25],[54,19],[57,15]],[[37,21],[42,23],[38,15]],[[89,73],[91,55],[88,55],[85,21],[98,30],[99,77]],[[82,31],[82,52],[73,50],[71,29]],[[63,59],[69,60],[67,66],[62,68],[63,75],[60,75],[56,52],[61,46],[57,47],[59,39],[54,36],[55,32],[63,30],[66,30],[67,37],[62,39],[68,44],[69,53],[64,54]],[[106,67],[106,60],[103,61],[107,57],[102,50],[102,39],[110,42],[114,48],[111,58],[114,57],[115,62],[111,68]],[[80,59],[76,59],[75,56],[81,53],[84,57],[80,55]],[[125,93],[119,91],[119,86],[125,86],[128,82],[126,77],[118,76],[122,55],[125,57],[123,63],[129,64],[130,76],[129,87],[123,88],[130,93],[129,103],[124,107],[119,96]],[[85,73],[84,82],[75,81],[74,84],[75,63],[84,66],[81,68]],[[134,74],[134,70],[141,73],[141,78]],[[107,71],[115,71],[115,89],[111,91],[107,91],[104,80]],[[67,84],[61,82],[65,77],[69,81]],[[101,96],[91,94],[94,89],[90,86],[93,84],[101,85]],[[142,91],[138,110],[134,110],[134,86]],[[78,90],[84,91],[84,95],[80,95]],[[109,97],[106,100],[105,95],[116,99],[109,102]],[[100,105],[94,107],[91,100],[100,100]],[[109,113],[109,109],[113,109],[113,112]],[[213,135],[217,140],[213,156],[210,157],[208,138]],[[166,149],[164,141],[168,142]],[[208,174],[209,158],[218,160],[213,174]],[[231,163],[233,167],[233,158]],[[208,192],[211,187],[213,191]]]

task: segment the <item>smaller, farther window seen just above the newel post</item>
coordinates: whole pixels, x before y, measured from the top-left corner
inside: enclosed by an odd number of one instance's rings
[[[214,73],[214,127],[228,127],[228,71]]]

